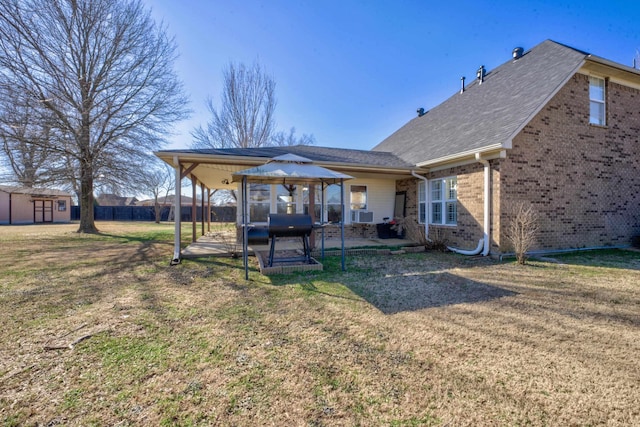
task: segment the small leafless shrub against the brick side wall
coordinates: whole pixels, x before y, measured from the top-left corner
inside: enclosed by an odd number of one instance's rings
[[[507,224],[506,237],[513,245],[518,264],[525,264],[527,252],[536,241],[539,230],[538,214],[533,206],[523,202],[510,209],[511,220]]]

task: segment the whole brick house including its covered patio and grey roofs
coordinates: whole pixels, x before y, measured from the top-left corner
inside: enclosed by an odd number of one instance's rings
[[[397,194],[406,194],[400,210],[430,237],[485,255],[512,251],[506,227],[518,202],[539,215],[534,250],[625,246],[640,234],[640,71],[551,40],[514,49],[496,69],[480,68],[470,84],[419,110],[372,151],[296,146],[156,154],[207,187],[237,188],[226,184],[233,171],[285,152],[354,176],[345,183],[352,236],[373,236],[373,225],[400,216]],[[287,204],[304,211],[304,188],[278,187],[254,185],[251,221]],[[333,190],[324,191],[324,219],[337,219]]]

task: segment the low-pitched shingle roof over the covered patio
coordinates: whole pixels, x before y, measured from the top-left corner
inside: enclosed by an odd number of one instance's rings
[[[351,150],[346,148],[319,147],[315,145],[291,145],[285,147],[218,148],[197,150],[163,150],[160,153],[204,154],[214,156],[264,157],[271,159],[284,154],[295,154],[314,162],[344,163],[358,166],[379,166],[406,169],[413,166],[392,153]]]

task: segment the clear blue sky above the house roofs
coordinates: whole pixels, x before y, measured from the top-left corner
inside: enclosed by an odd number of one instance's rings
[[[167,149],[219,105],[222,71],[258,62],[276,82],[277,130],[369,150],[470,81],[546,39],[631,66],[640,1],[143,0],[175,37],[193,115]]]

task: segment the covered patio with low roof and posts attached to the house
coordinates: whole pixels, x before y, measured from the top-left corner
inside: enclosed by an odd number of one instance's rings
[[[410,242],[404,239],[377,239],[376,225],[393,219],[397,212],[396,180],[411,176],[413,168],[389,153],[365,152],[360,150],[291,146],[266,147],[248,149],[211,149],[211,150],[167,150],[155,153],[166,163],[172,165],[176,171],[176,199],[182,192],[181,182],[191,180],[192,206],[192,236],[191,244],[181,247],[181,224],[176,218],[174,255],[172,263],[179,263],[182,257],[207,257],[254,255],[264,250],[265,245],[250,244],[246,240],[245,231],[251,227],[268,227],[267,217],[273,213],[309,214],[317,213],[314,218],[313,236],[320,240],[320,232],[324,234],[326,227],[327,238],[322,238],[326,250],[343,247],[349,251],[354,248],[395,247],[405,246]],[[329,194],[328,185],[318,185],[319,190],[312,191],[309,180],[297,182],[280,182],[270,180],[267,184],[258,184],[262,188],[254,188],[243,192],[243,184],[239,179],[239,172],[261,167],[279,156],[299,156],[313,163],[313,167],[326,168],[337,176],[353,178],[347,190],[340,179],[333,179],[331,187],[340,186],[338,193]],[[254,180],[255,182],[256,180]],[[260,181],[259,179],[257,181]],[[262,180],[264,181],[264,180]],[[304,181],[304,182],[303,182]],[[308,182],[307,182],[308,181]],[[325,180],[328,182],[329,180]],[[266,189],[265,189],[266,187]],[[279,191],[288,189],[289,199],[282,197]],[[294,188],[295,187],[295,188]],[[307,188],[309,187],[309,191]],[[212,232],[210,217],[211,197],[216,190],[234,190],[238,195],[238,215],[236,219],[235,239],[216,239]],[[305,194],[303,194],[303,190]],[[266,196],[259,191],[266,191]],[[347,192],[346,194],[345,191]],[[270,192],[270,194],[269,194]],[[286,191],[285,191],[286,192]],[[198,194],[199,193],[199,194]],[[309,194],[307,194],[309,193]],[[315,211],[314,209],[314,193]],[[260,196],[262,200],[257,202]],[[266,197],[266,198],[265,198]],[[357,200],[355,198],[357,197]],[[196,206],[196,200],[202,203]],[[249,201],[249,205],[245,204]],[[243,203],[243,201],[245,203]],[[357,203],[357,204],[354,204]],[[403,199],[404,203],[404,199]],[[404,204],[402,205],[404,209]],[[243,208],[245,213],[242,214]],[[197,209],[201,209],[200,224],[195,220]],[[283,212],[281,209],[284,209]],[[311,212],[310,212],[311,211]],[[264,217],[258,219],[258,216]],[[404,215],[401,211],[400,215]],[[245,226],[246,225],[246,226]],[[346,229],[346,239],[345,239]],[[389,236],[387,236],[389,237]],[[231,240],[231,241],[230,241]],[[313,240],[313,239],[311,239]],[[247,243],[244,243],[247,242]],[[280,240],[279,240],[280,242]],[[311,244],[312,247],[318,247]],[[286,240],[278,244],[278,249],[286,250]],[[295,243],[294,243],[295,245]],[[235,247],[234,247],[235,246]],[[246,250],[243,250],[245,247]],[[344,258],[343,258],[344,260]],[[246,265],[246,261],[245,261]]]

